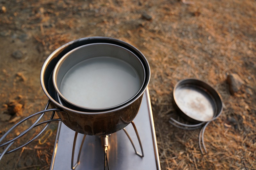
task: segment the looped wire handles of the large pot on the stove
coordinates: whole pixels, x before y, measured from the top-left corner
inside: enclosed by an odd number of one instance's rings
[[[14,151],[16,151],[16,150],[18,150],[18,149],[20,149],[20,148],[22,148],[22,147],[28,145],[28,144],[31,143],[32,141],[34,141],[37,137],[39,137],[39,136],[44,132],[44,130],[48,127],[48,125],[50,124],[50,122],[61,121],[61,119],[53,119],[53,117],[54,117],[54,115],[55,115],[55,112],[56,112],[56,111],[60,111],[60,109],[59,109],[59,108],[47,109],[47,108],[49,107],[50,103],[51,103],[51,101],[48,100],[48,102],[47,102],[47,104],[46,104],[44,110],[39,111],[39,112],[37,112],[37,113],[34,113],[34,114],[32,114],[32,115],[30,115],[30,116],[24,118],[24,119],[21,120],[20,122],[16,123],[14,126],[12,126],[11,129],[9,129],[9,130],[0,138],[0,147],[5,146],[5,145],[8,145],[8,146],[4,149],[4,151],[3,151],[2,153],[0,153],[0,161],[1,161],[1,159],[3,158],[4,154],[14,152]],[[40,119],[44,116],[44,114],[45,114],[46,112],[52,112],[51,118],[50,118],[49,120],[46,120],[46,121],[43,121],[43,122],[39,122]],[[34,117],[34,116],[36,116],[36,115],[40,115],[40,116],[36,119],[36,121],[35,121],[28,129],[26,129],[26,130],[24,130],[23,132],[21,132],[17,137],[15,137],[15,138],[13,138],[13,139],[11,139],[11,140],[9,140],[9,141],[7,141],[7,142],[1,144],[1,142],[3,141],[3,139],[4,139],[13,129],[15,129],[15,128],[18,127],[21,123],[27,121],[28,119],[30,119],[30,118],[32,118],[32,117]],[[39,122],[39,123],[38,123],[38,122]],[[17,148],[14,148],[14,149],[8,151],[8,149],[12,146],[12,144],[13,144],[17,139],[19,139],[20,137],[24,136],[24,135],[25,135],[26,133],[28,133],[28,131],[30,131],[31,129],[33,129],[33,128],[39,126],[39,125],[42,125],[42,124],[44,124],[44,123],[46,123],[46,125],[44,126],[44,128],[43,128],[35,137],[33,137],[33,138],[32,138],[31,140],[29,140],[27,143],[25,143],[25,144],[23,144],[23,145],[21,145],[21,146],[19,146],[19,147],[17,147]]]

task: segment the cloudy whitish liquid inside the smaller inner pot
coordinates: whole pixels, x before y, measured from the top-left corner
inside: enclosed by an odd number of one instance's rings
[[[128,63],[112,57],[94,57],[73,66],[64,76],[60,92],[70,102],[89,108],[124,103],[140,89],[140,78]]]

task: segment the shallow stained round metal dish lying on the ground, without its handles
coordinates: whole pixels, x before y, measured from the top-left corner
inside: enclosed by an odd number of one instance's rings
[[[212,86],[194,79],[180,80],[173,89],[173,104],[189,122],[209,122],[222,112],[222,98]]]

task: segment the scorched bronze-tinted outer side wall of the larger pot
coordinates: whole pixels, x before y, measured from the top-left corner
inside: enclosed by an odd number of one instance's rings
[[[57,112],[68,128],[86,135],[100,136],[123,129],[136,117],[143,95],[132,104],[108,113],[79,113],[63,109]],[[59,108],[51,103],[52,108]]]

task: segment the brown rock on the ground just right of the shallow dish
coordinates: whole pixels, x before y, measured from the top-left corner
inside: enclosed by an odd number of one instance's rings
[[[229,74],[227,77],[227,83],[229,85],[229,91],[234,95],[238,90],[240,90],[241,85],[244,84],[244,81],[237,74]]]

